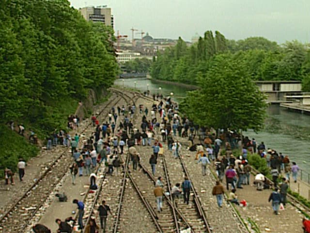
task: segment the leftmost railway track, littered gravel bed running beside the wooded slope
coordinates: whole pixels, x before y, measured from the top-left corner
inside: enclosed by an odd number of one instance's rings
[[[116,101],[115,101],[116,100]],[[120,99],[111,98],[104,105],[97,116],[101,116],[104,112],[107,115],[107,108],[111,104],[116,104]],[[85,133],[92,125],[90,122],[80,132]],[[64,150],[58,156],[46,171],[37,179],[35,183],[21,196],[9,210],[0,218],[0,233],[24,233],[24,229],[29,225],[29,221],[44,204],[49,193],[62,179],[68,171],[72,163],[71,154],[68,150]]]

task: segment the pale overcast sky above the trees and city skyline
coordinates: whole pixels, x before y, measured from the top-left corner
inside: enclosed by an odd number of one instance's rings
[[[310,0],[70,0],[75,8],[108,5],[114,31],[131,38],[130,28],[155,38],[190,41],[219,31],[228,39],[263,36],[284,43],[310,42]],[[135,37],[140,37],[136,34]]]

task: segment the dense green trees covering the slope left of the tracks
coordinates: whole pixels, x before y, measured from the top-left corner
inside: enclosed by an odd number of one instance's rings
[[[68,0],[1,0],[1,121],[56,128],[60,102],[113,83],[112,40],[112,28],[87,22]]]

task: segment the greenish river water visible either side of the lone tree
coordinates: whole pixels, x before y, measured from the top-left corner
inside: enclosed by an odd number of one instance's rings
[[[136,83],[135,83],[136,82]],[[151,93],[172,95],[172,100],[180,101],[185,97],[189,88],[177,85],[157,83],[149,79],[118,79],[115,84],[136,88],[142,92],[147,89]],[[266,148],[272,148],[291,161],[295,161],[303,170],[310,172],[310,116],[290,112],[279,105],[270,105],[267,109],[265,127],[260,132],[244,132],[244,135],[255,138],[257,143],[264,142]]]

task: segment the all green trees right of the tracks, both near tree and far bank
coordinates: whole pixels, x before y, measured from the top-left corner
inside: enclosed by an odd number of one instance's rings
[[[264,96],[255,80],[302,80],[310,91],[310,50],[298,41],[278,45],[263,37],[227,40],[211,31],[191,47],[177,45],[157,54],[155,79],[198,85],[180,104],[199,124],[221,129],[263,126]]]

